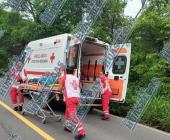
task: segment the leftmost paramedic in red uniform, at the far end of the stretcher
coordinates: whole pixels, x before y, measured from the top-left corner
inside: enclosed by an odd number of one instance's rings
[[[10,88],[10,99],[15,111],[22,111],[24,96],[19,90],[19,85],[23,82],[20,75],[17,76],[15,83]],[[17,99],[18,98],[18,99]]]

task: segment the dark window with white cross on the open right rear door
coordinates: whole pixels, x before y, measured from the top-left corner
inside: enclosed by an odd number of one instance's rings
[[[118,56],[117,60],[113,65],[112,69],[113,74],[124,74],[126,71],[126,63],[127,63],[126,56]]]

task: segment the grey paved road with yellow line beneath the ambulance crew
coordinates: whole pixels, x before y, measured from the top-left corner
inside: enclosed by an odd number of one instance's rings
[[[7,102],[8,104],[8,102]],[[9,104],[10,105],[10,104]],[[63,111],[64,112],[64,111]],[[63,112],[60,112],[63,114]],[[112,116],[109,121],[100,120],[101,113],[93,110],[84,121],[88,135],[85,140],[170,140],[170,134],[149,128],[143,125],[137,125],[131,132],[121,124],[122,118]],[[55,140],[71,140],[73,136],[63,131],[63,122],[57,122],[54,119],[48,119],[47,124],[42,124],[40,119],[26,114],[28,120],[48,133]],[[0,106],[0,122],[22,137],[22,140],[43,140],[44,138],[35,132],[32,128],[16,118],[12,113]],[[9,138],[7,130],[0,127],[0,140]]]

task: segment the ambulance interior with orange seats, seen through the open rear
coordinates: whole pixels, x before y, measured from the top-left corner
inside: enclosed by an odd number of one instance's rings
[[[107,46],[95,39],[86,39],[82,45],[69,47],[67,67],[77,69],[77,76],[83,83],[93,83],[104,67],[99,60],[104,57]]]

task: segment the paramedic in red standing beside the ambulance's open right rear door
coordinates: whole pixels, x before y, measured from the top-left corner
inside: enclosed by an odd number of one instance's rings
[[[103,74],[103,72],[100,72],[100,81],[103,86],[103,94],[102,94],[102,108],[103,108],[103,118],[102,120],[109,119],[109,102],[111,98],[111,89],[109,84],[109,79],[107,76]]]

